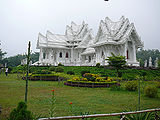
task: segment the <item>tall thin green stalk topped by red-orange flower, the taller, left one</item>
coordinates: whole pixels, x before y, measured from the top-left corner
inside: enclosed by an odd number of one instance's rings
[[[53,117],[55,115],[55,102],[56,102],[56,99],[55,99],[55,90],[51,90],[52,91],[52,98],[50,100],[51,102],[51,107],[50,107],[50,116]]]

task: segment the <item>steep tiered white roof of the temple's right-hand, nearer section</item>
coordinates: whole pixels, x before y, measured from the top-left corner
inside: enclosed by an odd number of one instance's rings
[[[143,46],[134,24],[129,23],[128,18],[122,16],[119,21],[113,22],[106,17],[105,21],[100,22],[93,47],[104,44],[124,44],[131,35],[135,38],[137,46]]]

